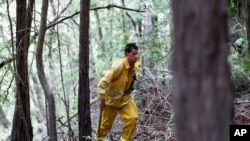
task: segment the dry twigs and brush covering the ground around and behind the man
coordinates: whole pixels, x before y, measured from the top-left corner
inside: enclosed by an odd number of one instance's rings
[[[135,84],[137,89],[133,94],[139,110],[139,119],[133,141],[176,141],[171,79],[167,77],[167,73],[161,75],[159,80],[154,77],[159,78],[159,75],[147,72],[140,82]],[[236,98],[234,109],[235,124],[250,124],[250,97]],[[93,129],[96,130],[99,121],[97,101],[91,104],[91,116]],[[108,135],[110,141],[119,140],[122,125],[122,120],[117,116]]]

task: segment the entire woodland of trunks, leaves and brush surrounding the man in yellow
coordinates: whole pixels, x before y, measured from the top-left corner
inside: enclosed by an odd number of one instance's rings
[[[1,1],[0,140],[91,140],[97,83],[135,42],[134,140],[228,141],[250,124],[249,13],[249,0]]]

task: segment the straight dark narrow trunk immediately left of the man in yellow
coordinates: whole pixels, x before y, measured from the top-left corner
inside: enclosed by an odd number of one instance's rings
[[[90,0],[80,2],[80,38],[79,38],[79,88],[78,118],[79,141],[91,136],[90,89],[89,89],[89,9]]]

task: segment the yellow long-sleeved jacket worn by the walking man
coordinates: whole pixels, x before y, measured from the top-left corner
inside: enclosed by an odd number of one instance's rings
[[[137,60],[131,70],[127,57],[114,62],[97,85],[100,98],[105,99],[106,105],[119,108],[132,99],[131,93],[125,92],[130,88],[139,65],[140,60]]]

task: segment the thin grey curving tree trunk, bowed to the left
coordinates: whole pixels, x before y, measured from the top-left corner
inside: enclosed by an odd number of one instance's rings
[[[39,80],[43,87],[46,100],[48,101],[48,112],[49,112],[49,140],[57,141],[57,131],[56,131],[56,106],[55,98],[52,89],[50,88],[43,67],[43,43],[46,31],[46,20],[48,12],[48,0],[43,0],[42,3],[42,15],[41,15],[41,25],[39,28],[38,43],[36,50],[36,67]]]

